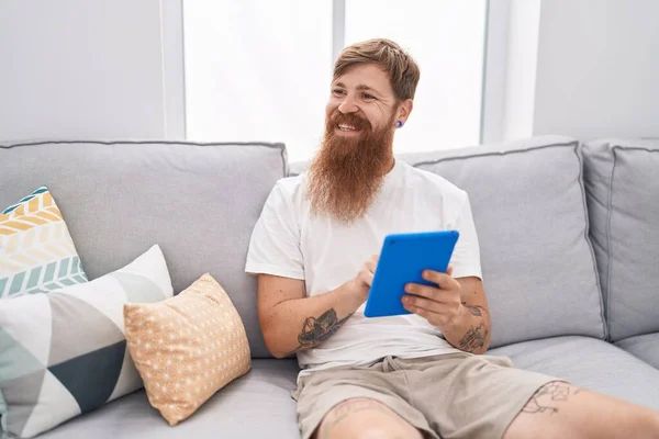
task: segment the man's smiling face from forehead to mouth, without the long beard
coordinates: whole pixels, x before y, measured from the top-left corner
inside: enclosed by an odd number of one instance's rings
[[[332,83],[325,108],[326,130],[339,138],[359,139],[368,133],[393,131],[396,99],[387,74],[376,65],[357,65]]]

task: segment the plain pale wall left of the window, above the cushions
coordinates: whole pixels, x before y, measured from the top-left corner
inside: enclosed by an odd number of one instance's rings
[[[180,26],[177,9],[180,0],[2,0],[0,140],[182,137],[182,45],[161,32]]]

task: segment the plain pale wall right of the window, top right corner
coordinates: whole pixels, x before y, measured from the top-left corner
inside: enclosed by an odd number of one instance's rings
[[[659,136],[659,1],[543,0],[533,134]]]

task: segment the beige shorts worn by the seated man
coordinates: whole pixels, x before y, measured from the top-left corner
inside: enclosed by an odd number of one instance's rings
[[[534,393],[552,381],[563,380],[514,369],[505,357],[388,357],[371,367],[302,376],[292,395],[303,439],[351,398],[381,402],[428,438],[502,438]]]

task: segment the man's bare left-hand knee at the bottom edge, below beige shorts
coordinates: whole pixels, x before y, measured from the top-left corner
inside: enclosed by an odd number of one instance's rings
[[[422,439],[421,432],[391,408],[375,399],[348,399],[321,423],[316,439]]]

